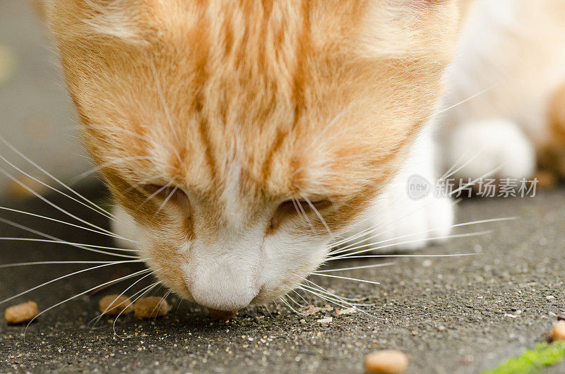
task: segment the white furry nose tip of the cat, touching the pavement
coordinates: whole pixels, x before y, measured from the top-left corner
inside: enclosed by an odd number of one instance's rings
[[[196,303],[215,314],[235,314],[258,294],[253,269],[234,265],[229,259],[195,264],[193,269],[188,289]]]

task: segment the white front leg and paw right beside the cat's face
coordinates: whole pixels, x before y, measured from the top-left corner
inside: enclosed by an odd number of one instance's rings
[[[412,146],[403,169],[350,233],[346,246],[359,247],[363,253],[415,250],[450,234],[453,201],[436,191],[435,153],[432,134],[426,130]]]

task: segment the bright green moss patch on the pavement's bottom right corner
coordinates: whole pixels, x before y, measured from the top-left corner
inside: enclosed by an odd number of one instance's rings
[[[565,342],[539,343],[535,349],[528,349],[521,356],[504,361],[498,368],[484,371],[482,374],[538,373],[542,368],[558,363],[564,358]]]

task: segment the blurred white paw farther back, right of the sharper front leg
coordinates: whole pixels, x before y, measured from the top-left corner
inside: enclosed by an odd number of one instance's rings
[[[452,176],[456,179],[521,179],[535,173],[534,145],[516,123],[507,119],[463,123],[445,146],[447,167],[459,169]]]

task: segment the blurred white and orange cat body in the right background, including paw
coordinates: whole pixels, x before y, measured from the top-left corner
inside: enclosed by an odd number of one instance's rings
[[[565,1],[474,0],[458,49],[444,97],[455,106],[439,120],[444,167],[470,160],[464,179],[565,176]]]

